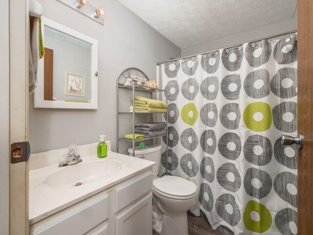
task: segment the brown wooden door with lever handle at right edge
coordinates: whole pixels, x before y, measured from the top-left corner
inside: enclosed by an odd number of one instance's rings
[[[298,234],[313,231],[313,4],[298,0]]]

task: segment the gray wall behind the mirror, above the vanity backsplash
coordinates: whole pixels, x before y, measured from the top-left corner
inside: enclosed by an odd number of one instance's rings
[[[92,0],[91,4],[106,8],[104,26],[56,0],[37,1],[44,17],[98,40],[99,94],[97,110],[35,109],[30,95],[31,152],[97,142],[100,134],[107,135],[115,150],[116,77],[128,67],[137,67],[156,79],[156,62],[178,58],[181,50],[117,0]]]

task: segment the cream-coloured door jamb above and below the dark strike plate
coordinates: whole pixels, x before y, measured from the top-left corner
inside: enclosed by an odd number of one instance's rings
[[[28,0],[9,2],[9,141],[27,141],[28,123]],[[9,152],[6,156],[9,158]],[[9,164],[10,235],[28,234],[28,164]]]

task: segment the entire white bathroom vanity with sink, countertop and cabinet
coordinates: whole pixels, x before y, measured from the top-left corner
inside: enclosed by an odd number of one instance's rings
[[[30,156],[30,235],[152,235],[155,163],[107,144],[106,158],[97,158],[96,143],[83,145],[83,162],[64,167],[67,149]]]

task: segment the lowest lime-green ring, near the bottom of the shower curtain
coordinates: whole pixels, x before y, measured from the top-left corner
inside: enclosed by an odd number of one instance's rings
[[[251,212],[255,211],[260,215],[260,220],[251,218]],[[256,201],[248,201],[244,212],[244,224],[247,230],[255,233],[264,233],[272,224],[272,216],[266,206]]]

